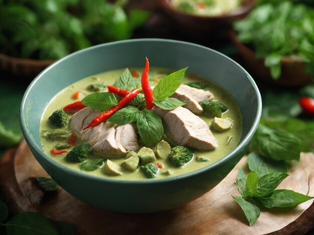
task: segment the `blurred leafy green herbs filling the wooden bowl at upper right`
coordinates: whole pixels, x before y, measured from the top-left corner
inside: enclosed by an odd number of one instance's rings
[[[265,58],[274,79],[281,75],[281,58],[303,60],[312,75],[314,9],[291,1],[263,0],[245,19],[234,24],[240,41]]]

